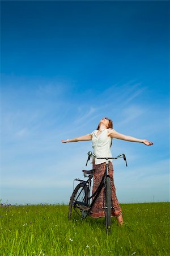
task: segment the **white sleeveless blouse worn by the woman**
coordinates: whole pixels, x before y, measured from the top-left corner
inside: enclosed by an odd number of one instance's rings
[[[90,135],[92,135],[92,147],[94,148],[94,154],[99,158],[102,157],[112,157],[111,152],[111,143],[112,138],[108,136],[108,132],[113,129],[102,129],[101,133],[97,135],[99,130],[93,131]],[[110,160],[112,162],[112,159]],[[96,159],[95,164],[101,164],[106,162],[105,159]]]

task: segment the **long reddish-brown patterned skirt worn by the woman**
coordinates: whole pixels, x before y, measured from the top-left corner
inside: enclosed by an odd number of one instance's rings
[[[106,163],[93,164],[93,168],[95,169],[95,172],[94,172],[94,184],[92,188],[92,193],[94,193],[96,189],[99,187],[100,181],[105,172],[105,165]],[[116,196],[116,189],[114,187],[114,182],[113,182],[113,165],[112,165],[112,162],[110,161],[109,161],[109,176],[111,177],[112,204],[114,207],[114,209],[112,209],[111,216],[118,217],[122,213],[122,210]],[[91,217],[93,218],[100,218],[105,216],[104,210],[103,210],[103,194],[104,194],[104,188],[101,189],[100,194],[97,197],[95,204],[91,209]]]

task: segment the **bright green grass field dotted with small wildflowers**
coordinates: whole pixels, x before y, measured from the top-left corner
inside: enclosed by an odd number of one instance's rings
[[[0,207],[0,255],[169,255],[169,203],[122,204],[112,218],[67,220],[66,205]]]

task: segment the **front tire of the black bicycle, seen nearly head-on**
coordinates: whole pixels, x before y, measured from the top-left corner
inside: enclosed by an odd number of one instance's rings
[[[111,211],[112,211],[112,199],[111,199],[111,179],[107,177],[105,188],[105,230],[106,233],[111,233]]]

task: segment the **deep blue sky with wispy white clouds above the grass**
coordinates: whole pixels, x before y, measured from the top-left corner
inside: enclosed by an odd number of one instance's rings
[[[169,200],[168,5],[1,1],[3,203],[68,203],[105,116],[154,142],[113,140],[120,203]]]

